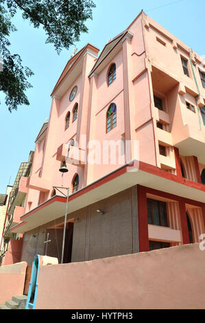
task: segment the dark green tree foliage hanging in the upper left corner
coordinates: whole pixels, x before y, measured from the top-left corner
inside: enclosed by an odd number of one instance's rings
[[[20,104],[29,105],[26,89],[32,87],[27,81],[34,73],[23,67],[21,57],[11,54],[8,37],[16,31],[12,17],[17,10],[22,11],[23,19],[34,28],[40,26],[47,35],[46,43],[53,43],[60,54],[62,48],[69,49],[80,40],[82,32],[88,32],[85,25],[92,19],[95,3],[91,0],[0,0],[0,56],[3,69],[0,69],[0,91],[5,93],[5,104],[9,111]]]

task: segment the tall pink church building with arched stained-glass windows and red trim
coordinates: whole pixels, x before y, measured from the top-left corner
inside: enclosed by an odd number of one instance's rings
[[[88,44],[68,61],[36,138],[11,229],[29,266],[46,252],[61,260],[67,188],[64,263],[205,234],[204,60],[143,12],[98,52]]]

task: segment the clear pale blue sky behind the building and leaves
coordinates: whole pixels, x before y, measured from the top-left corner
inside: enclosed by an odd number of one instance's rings
[[[205,55],[204,0],[94,0],[93,21],[87,21],[88,34],[82,34],[76,47],[80,50],[86,43],[103,49],[106,41],[128,27],[143,9],[169,32],[180,38],[200,55]],[[170,5],[167,5],[172,3]],[[34,71],[29,79],[32,89],[27,90],[29,106],[19,106],[8,111],[3,93],[0,93],[0,193],[14,183],[22,161],[27,161],[29,151],[43,122],[49,118],[51,91],[62,69],[71,57],[73,48],[62,50],[58,55],[51,44],[45,44],[43,29],[34,29],[23,21],[21,12],[13,19],[17,32],[10,35],[10,52],[20,54],[24,66]]]

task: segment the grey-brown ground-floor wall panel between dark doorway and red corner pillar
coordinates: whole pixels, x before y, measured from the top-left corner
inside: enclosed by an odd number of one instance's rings
[[[105,213],[97,214],[97,209]],[[80,221],[74,223],[72,262],[132,253],[130,190],[75,213]]]

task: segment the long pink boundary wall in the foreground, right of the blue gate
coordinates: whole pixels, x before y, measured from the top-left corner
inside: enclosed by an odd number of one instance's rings
[[[40,267],[36,309],[205,309],[199,245]]]

